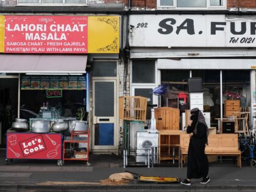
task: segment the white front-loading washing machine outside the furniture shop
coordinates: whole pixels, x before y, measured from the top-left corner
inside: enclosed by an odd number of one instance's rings
[[[146,154],[143,149],[151,149],[152,147],[158,147],[158,132],[156,132],[156,131],[137,132],[136,162],[138,162],[138,163],[145,162]],[[150,158],[151,158],[151,156],[150,156]]]

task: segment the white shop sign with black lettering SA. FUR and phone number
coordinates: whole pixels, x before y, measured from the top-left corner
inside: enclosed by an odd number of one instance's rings
[[[131,15],[133,47],[256,47],[256,16]]]

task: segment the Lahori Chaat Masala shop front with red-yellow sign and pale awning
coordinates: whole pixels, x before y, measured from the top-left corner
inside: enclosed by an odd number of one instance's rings
[[[95,59],[101,65],[117,63],[119,16],[0,16],[0,52],[1,145],[7,146],[7,156],[62,160],[66,158],[61,155],[63,141],[65,137],[74,137],[72,130],[88,133],[87,141],[77,144],[73,160],[84,158],[80,150],[93,151],[92,108],[102,110],[103,106],[93,102],[91,91],[95,85],[91,81],[94,68],[91,66]],[[113,115],[113,122],[115,118]],[[26,128],[20,119],[27,120],[27,130],[20,129]],[[117,137],[115,129],[112,133]],[[7,130],[15,136],[6,138]],[[61,137],[52,135],[54,132]],[[33,149],[27,146],[34,137],[45,141],[46,147],[40,145],[41,152],[38,146]],[[13,142],[10,143],[13,138],[20,148],[13,148]],[[22,146],[24,140],[27,143]],[[107,149],[115,148],[115,143],[105,145]],[[29,148],[32,155],[24,155],[25,149],[21,147]]]

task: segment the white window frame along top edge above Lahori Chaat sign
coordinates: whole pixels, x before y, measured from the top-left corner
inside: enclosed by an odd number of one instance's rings
[[[38,3],[32,2],[32,3],[24,3],[19,2],[20,0],[17,0],[17,6],[88,6],[88,1],[86,0],[85,4],[79,4],[79,3],[66,3],[66,0],[62,0],[62,3],[42,3],[42,0],[38,0]]]

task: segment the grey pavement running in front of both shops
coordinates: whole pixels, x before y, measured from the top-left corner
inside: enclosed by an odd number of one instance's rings
[[[16,159],[5,165],[5,150],[0,150],[0,191],[256,191],[256,168],[243,161],[236,167],[232,160],[210,163],[210,182],[193,179],[191,186],[180,183],[144,183],[134,180],[125,185],[106,185],[101,180],[116,172],[132,171],[143,176],[179,177],[185,179],[187,167],[179,168],[164,162],[154,168],[130,166],[123,168],[117,155],[90,155],[91,166],[85,162],[65,161],[57,166],[54,160]]]

